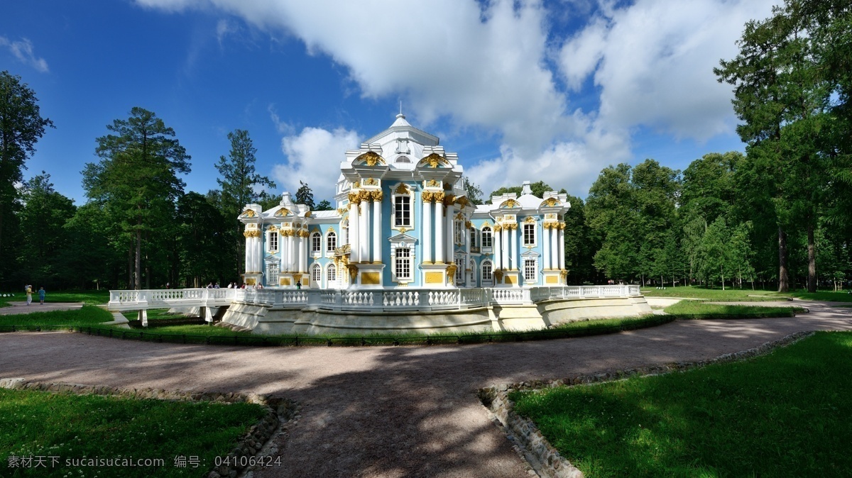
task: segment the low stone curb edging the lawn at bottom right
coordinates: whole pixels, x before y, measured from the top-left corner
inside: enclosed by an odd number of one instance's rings
[[[781,346],[793,344],[805,339],[814,332],[797,332],[784,338],[758,345],[755,348],[730,354],[722,354],[708,360],[679,361],[675,363],[649,367],[627,368],[607,373],[577,375],[556,380],[533,380],[516,384],[499,384],[477,390],[482,404],[486,407],[499,426],[504,429],[509,441],[515,443],[533,470],[546,478],[582,478],[583,472],[575,468],[566,458],[550,445],[532,420],[515,413],[515,402],[509,400],[509,392],[515,390],[541,390],[560,386],[597,384],[623,380],[633,376],[652,376],[660,373],[684,372],[686,370],[706,367],[716,363],[746,360],[751,357],[763,356]]]

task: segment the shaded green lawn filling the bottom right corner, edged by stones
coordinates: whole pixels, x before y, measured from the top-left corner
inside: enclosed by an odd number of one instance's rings
[[[852,333],[685,373],[515,392],[586,476],[849,476]]]

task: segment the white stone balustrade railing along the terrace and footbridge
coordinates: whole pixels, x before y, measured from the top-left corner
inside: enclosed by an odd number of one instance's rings
[[[639,286],[480,287],[461,289],[164,289],[110,291],[112,310],[219,306],[232,301],[272,307],[316,306],[327,310],[449,310],[543,300],[636,297]]]

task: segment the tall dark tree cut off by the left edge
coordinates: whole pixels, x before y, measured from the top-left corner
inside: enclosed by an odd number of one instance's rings
[[[0,282],[12,265],[4,232],[14,213],[19,191],[15,187],[23,179],[26,160],[36,151],[44,128],[53,128],[43,118],[35,92],[20,77],[0,71]]]

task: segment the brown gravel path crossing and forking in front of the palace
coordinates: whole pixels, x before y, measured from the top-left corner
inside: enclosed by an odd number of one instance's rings
[[[809,314],[678,321],[583,339],[417,347],[250,349],[153,344],[76,333],[0,334],[0,378],[127,388],[284,396],[302,418],[283,464],[256,477],[521,477],[527,470],[487,418],[489,384],[692,361],[800,330],[852,329],[852,309],[801,302]]]

